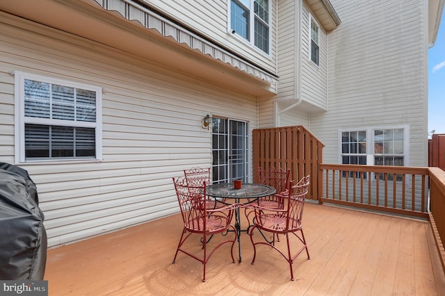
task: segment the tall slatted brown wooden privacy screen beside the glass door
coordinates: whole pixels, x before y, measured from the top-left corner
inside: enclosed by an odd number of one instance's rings
[[[318,166],[322,162],[323,143],[305,126],[284,126],[253,131],[254,181],[257,167],[291,169],[291,180],[311,175],[308,199],[318,199]]]

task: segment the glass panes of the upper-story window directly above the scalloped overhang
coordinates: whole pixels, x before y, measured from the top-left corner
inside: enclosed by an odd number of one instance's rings
[[[269,54],[269,0],[230,0],[230,31]],[[253,36],[253,38],[252,38]]]

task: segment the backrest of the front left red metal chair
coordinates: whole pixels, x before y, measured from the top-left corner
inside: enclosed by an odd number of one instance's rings
[[[173,178],[184,226],[193,231],[206,229],[206,181],[188,184],[185,177]]]

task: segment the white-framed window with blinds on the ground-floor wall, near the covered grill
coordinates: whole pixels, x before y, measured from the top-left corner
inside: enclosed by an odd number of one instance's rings
[[[16,162],[102,159],[102,88],[15,73]]]

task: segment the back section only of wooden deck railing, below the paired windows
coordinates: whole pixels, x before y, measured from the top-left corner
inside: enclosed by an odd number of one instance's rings
[[[320,202],[428,219],[428,167],[321,164]]]

